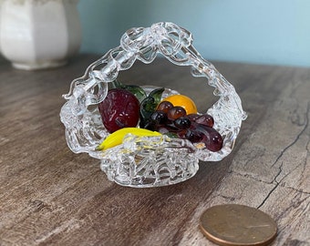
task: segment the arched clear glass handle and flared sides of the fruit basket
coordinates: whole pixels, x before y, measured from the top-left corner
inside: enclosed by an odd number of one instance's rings
[[[233,85],[199,54],[192,46],[192,41],[189,31],[169,22],[130,28],[121,36],[120,46],[110,49],[92,63],[83,77],[71,82],[69,92],[63,96],[67,102],[61,109],[60,118],[66,128],[68,147],[75,153],[87,152],[90,156],[101,159],[102,155],[95,149],[109,133],[104,128],[97,129],[96,124],[92,128],[95,128],[96,133],[85,130],[85,123],[92,124],[89,121],[94,120],[94,111],[89,109],[90,106],[98,105],[104,100],[109,82],[118,77],[119,71],[129,69],[137,59],[150,64],[161,54],[177,66],[191,67],[193,77],[206,77],[208,84],[215,87],[213,94],[220,98],[207,113],[214,118],[214,128],[225,136],[224,146],[218,152],[196,149],[195,156],[204,161],[221,160],[227,156],[233,149],[246,113]],[[191,145],[188,140],[176,142],[181,144],[180,147]]]

